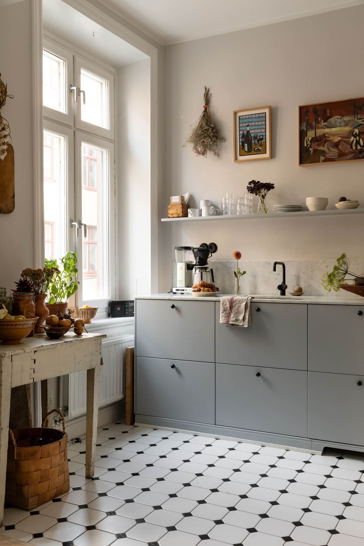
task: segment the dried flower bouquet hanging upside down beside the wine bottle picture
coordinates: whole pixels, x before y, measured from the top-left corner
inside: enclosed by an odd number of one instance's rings
[[[196,123],[191,126],[192,131],[183,145],[191,144],[196,156],[207,157],[207,152],[213,152],[214,156],[219,157],[219,147],[226,140],[211,117],[210,108],[208,108],[210,99],[210,87],[205,86],[204,110]]]

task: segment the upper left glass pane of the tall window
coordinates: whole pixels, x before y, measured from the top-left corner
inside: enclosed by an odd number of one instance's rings
[[[43,50],[43,104],[66,114],[65,61]]]

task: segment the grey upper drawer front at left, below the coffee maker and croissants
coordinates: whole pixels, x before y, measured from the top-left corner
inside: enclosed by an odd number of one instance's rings
[[[212,301],[136,300],[136,356],[214,362],[213,312]]]

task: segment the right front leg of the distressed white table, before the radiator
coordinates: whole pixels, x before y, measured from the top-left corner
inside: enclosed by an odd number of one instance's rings
[[[95,466],[97,416],[99,409],[100,363],[87,370],[86,399],[86,478],[92,478]]]

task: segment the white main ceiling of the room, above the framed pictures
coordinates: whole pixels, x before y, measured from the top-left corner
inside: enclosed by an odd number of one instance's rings
[[[363,4],[364,0],[100,0],[160,44]]]

